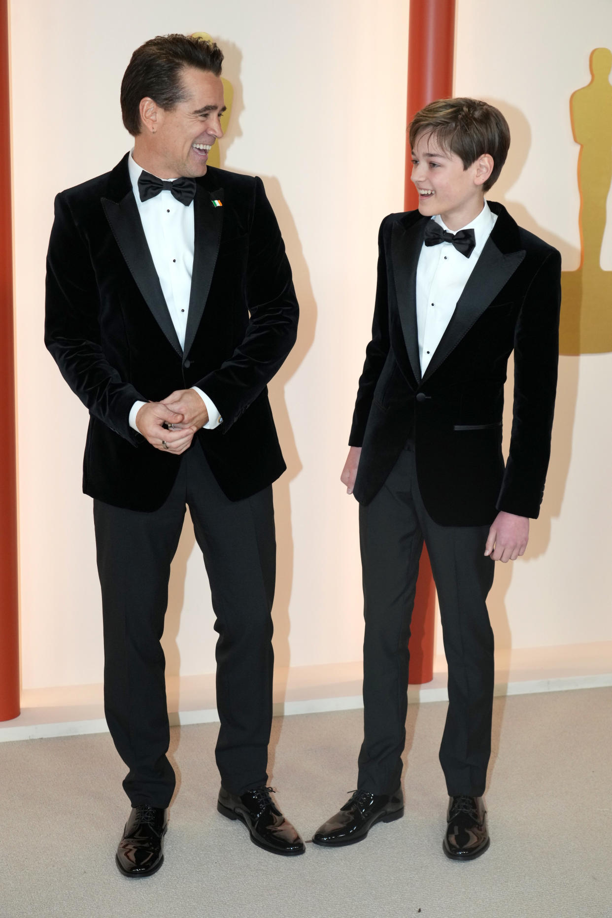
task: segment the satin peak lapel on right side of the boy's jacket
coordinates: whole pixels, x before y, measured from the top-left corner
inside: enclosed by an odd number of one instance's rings
[[[423,382],[432,373],[435,373],[440,364],[454,351],[464,335],[472,328],[476,319],[480,319],[484,310],[507,284],[524,258],[524,249],[508,252],[505,255],[499,251],[495,242],[489,237],[478,263],[470,274],[467,284],[463,287],[462,295],[457,301],[457,306],[442,335],[440,344],[423,374]]]

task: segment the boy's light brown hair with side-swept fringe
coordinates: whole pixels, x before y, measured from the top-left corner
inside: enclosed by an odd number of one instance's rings
[[[495,185],[510,146],[510,129],[498,108],[478,99],[437,99],[421,108],[408,125],[413,149],[423,132],[430,134],[442,150],[459,156],[463,169],[488,153],[494,166],[483,190]]]

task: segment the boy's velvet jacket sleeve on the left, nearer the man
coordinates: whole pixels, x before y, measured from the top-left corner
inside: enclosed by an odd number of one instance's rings
[[[365,362],[359,380],[355,410],[352,416],[350,446],[361,446],[365,425],[368,422],[374,389],[381,375],[389,353],[389,302],[387,296],[387,266],[384,252],[384,230],[388,218],[384,218],[378,231],[378,270],[372,340],[365,350]]]

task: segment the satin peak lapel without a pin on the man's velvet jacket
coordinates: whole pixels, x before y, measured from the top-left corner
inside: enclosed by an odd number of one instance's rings
[[[142,229],[134,193],[130,188],[128,194],[118,204],[116,201],[103,197],[102,207],[104,207],[106,219],[117,241],[119,251],[150,308],[153,318],[176,353],[183,357],[183,349],[172,325],[166,300],[161,292],[160,278],[157,276],[144,229]]]

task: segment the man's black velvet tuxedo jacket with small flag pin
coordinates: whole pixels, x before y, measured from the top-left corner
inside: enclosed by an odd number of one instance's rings
[[[196,436],[228,498],[249,497],[284,472],[266,385],[293,347],[298,307],[278,224],[261,179],[212,167],[197,179],[194,207],[183,352],[128,157],[55,200],[45,342],[91,416],[83,490],[117,507],[158,509],[170,493],[180,457],[150,446],[128,416],[135,401],[175,389],[199,386],[221,413],[217,430]]]

